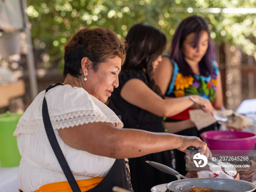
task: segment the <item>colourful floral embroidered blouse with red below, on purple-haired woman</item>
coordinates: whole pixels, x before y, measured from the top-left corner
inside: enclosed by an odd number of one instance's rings
[[[170,58],[169,55],[165,55]],[[203,98],[207,98],[211,103],[215,100],[216,90],[217,90],[217,75],[219,72],[218,67],[212,61],[212,68],[214,69],[214,74],[203,76],[203,75],[189,75],[184,76],[180,73],[178,64],[170,58],[174,65],[173,77],[171,79],[170,85],[165,93],[167,97],[183,97],[186,95],[200,95]],[[174,118],[178,120],[184,120],[189,118],[188,110],[189,108],[176,116],[169,118]]]

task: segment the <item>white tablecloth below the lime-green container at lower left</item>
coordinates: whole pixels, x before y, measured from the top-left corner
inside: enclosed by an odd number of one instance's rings
[[[0,167],[0,192],[19,192],[17,167]]]

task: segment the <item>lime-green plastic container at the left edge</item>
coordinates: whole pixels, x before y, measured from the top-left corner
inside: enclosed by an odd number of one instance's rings
[[[0,165],[1,167],[19,166],[20,153],[17,139],[12,134],[22,114],[6,113],[0,114]]]

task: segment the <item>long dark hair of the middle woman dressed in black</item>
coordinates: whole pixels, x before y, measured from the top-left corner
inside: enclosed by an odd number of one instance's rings
[[[165,34],[151,25],[140,23],[129,30],[125,40],[128,43],[128,50],[122,70],[143,71],[146,69],[148,86],[162,96],[159,87],[153,80],[152,63],[159,55],[163,54],[166,48]]]

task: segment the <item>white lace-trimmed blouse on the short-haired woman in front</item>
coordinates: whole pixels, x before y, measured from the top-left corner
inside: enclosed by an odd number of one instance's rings
[[[41,185],[67,181],[47,138],[42,119],[42,91],[27,108],[14,132],[20,155],[19,185],[31,192]],[[45,95],[50,120],[68,165],[76,180],[106,176],[116,159],[93,155],[67,146],[57,130],[77,125],[108,122],[123,127],[116,114],[83,88],[57,86]],[[104,127],[102,127],[104,129]]]

